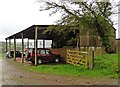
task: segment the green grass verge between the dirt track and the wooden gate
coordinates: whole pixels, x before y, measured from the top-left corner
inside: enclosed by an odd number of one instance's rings
[[[118,78],[118,56],[117,54],[107,54],[96,57],[94,69],[85,69],[83,65],[73,66],[70,64],[43,64],[39,66],[26,66],[25,69],[63,76],[84,76],[84,77],[108,77]]]

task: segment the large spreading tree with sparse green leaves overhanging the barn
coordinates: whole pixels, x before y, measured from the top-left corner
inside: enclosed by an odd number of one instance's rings
[[[93,1],[88,3],[72,2],[72,0],[59,0],[59,2],[44,0],[43,2],[45,5],[40,8],[40,11],[51,10],[50,15],[60,11],[62,18],[58,20],[57,24],[64,25],[58,26],[57,29],[49,28],[46,32],[54,33],[56,31],[59,36],[63,36],[61,40],[64,38],[69,43],[72,40],[78,44],[80,33],[93,29],[101,37],[106,52],[112,51],[110,38],[113,34],[113,22],[110,19],[112,15],[110,2]],[[71,35],[70,38],[67,38],[67,35]]]

